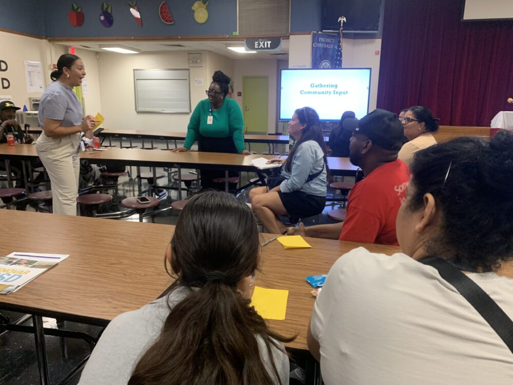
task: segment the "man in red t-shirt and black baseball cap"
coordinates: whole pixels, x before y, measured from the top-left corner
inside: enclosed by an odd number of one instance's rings
[[[404,136],[402,124],[396,114],[376,109],[361,120],[346,119],[344,128],[353,130],[349,159],[365,175],[349,194],[346,220],[310,227],[300,223],[287,234],[399,245],[396,217],[410,179],[408,166],[397,159]]]

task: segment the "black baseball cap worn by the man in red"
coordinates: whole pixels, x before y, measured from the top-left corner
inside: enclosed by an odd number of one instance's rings
[[[404,128],[393,112],[377,108],[362,119],[345,119],[342,126],[353,132],[364,134],[372,143],[388,150],[401,149]]]

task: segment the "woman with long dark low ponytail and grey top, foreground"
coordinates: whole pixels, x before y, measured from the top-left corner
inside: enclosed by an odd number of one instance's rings
[[[114,318],[80,384],[288,383],[284,338],[250,306],[260,243],[249,207],[225,192],[192,197],[166,251],[168,293]]]

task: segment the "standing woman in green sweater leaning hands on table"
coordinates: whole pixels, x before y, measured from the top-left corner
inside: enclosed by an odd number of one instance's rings
[[[206,91],[208,99],[202,100],[192,112],[183,147],[172,151],[188,151],[198,140],[198,150],[206,152],[232,152],[249,155],[244,144],[244,118],[239,104],[227,98],[230,78],[215,71]],[[230,177],[238,172],[230,172]],[[201,170],[202,188],[218,188],[213,179],[224,178],[224,171]],[[224,185],[223,185],[224,188]]]

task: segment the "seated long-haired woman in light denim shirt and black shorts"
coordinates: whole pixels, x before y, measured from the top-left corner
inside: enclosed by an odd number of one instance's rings
[[[267,162],[284,163],[280,177],[249,191],[253,213],[272,234],[287,231],[278,216],[307,218],[322,213],[326,204],[326,145],[319,115],[310,107],[295,110],[288,132],[296,141],[287,160]]]

